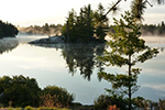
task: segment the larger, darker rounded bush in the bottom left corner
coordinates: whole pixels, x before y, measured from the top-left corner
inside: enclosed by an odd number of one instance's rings
[[[38,105],[40,88],[34,78],[3,76],[0,78],[0,102],[4,107],[25,107]]]

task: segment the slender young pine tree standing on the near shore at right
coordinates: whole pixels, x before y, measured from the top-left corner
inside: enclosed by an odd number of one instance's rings
[[[109,92],[117,92],[117,95],[127,95],[129,98],[129,109],[131,110],[132,94],[134,94],[139,86],[136,85],[140,68],[132,68],[136,63],[144,63],[156,56],[158,51],[145,45],[145,41],[140,38],[141,25],[136,22],[134,14],[125,12],[121,15],[122,19],[114,19],[114,33],[110,34],[112,38],[108,42],[110,51],[106,51],[105,55],[100,57],[107,66],[128,66],[128,74],[107,74],[101,72],[99,77],[112,84],[112,90]]]

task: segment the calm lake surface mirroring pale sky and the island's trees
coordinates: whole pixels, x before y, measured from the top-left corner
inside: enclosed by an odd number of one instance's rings
[[[97,73],[125,73],[127,67],[106,67],[97,61],[106,45],[47,44],[30,45],[28,42],[40,35],[18,35],[16,38],[0,40],[0,76],[23,75],[35,78],[41,88],[58,86],[75,94],[75,101],[92,105],[94,100],[111,85],[99,80]],[[136,67],[142,68],[139,76],[141,88],[134,96],[157,101],[165,98],[165,37],[143,37],[152,47],[158,47],[157,57]]]

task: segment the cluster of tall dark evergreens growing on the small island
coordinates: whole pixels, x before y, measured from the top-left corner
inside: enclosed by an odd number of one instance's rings
[[[103,16],[103,12],[105,9],[101,4],[96,12],[91,10],[90,4],[85,6],[80,9],[79,15],[73,9],[62,29],[62,34],[67,38],[66,42],[105,41],[106,28],[108,28],[105,23],[108,19]]]

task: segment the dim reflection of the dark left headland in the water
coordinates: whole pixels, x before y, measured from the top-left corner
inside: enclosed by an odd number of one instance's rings
[[[0,54],[4,52],[10,52],[19,45],[19,41],[16,38],[3,38],[0,40]]]

